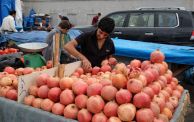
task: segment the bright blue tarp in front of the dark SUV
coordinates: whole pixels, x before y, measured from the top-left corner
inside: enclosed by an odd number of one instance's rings
[[[140,41],[113,39],[116,55],[149,59],[150,53],[159,49],[165,54],[165,61],[177,64],[194,65],[194,47],[156,44]]]

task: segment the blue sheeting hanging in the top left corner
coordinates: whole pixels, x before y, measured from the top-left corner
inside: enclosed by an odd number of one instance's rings
[[[9,11],[15,10],[15,0],[0,0],[0,26],[4,17],[9,15]]]

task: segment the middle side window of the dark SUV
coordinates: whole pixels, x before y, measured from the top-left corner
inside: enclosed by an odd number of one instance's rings
[[[128,27],[154,27],[154,13],[131,13]]]

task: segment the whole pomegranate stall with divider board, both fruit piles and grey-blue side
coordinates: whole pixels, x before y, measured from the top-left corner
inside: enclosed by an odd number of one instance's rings
[[[25,75],[24,70],[10,72],[9,67],[0,75],[0,119],[183,121],[189,105],[188,91],[179,85],[161,51],[153,51],[149,57],[127,64],[110,58],[87,72],[79,61],[42,71],[31,69]]]

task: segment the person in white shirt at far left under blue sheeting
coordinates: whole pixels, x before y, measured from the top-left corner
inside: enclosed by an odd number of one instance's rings
[[[15,16],[16,11],[10,11],[9,15],[3,19],[2,26],[0,28],[1,32],[18,32],[15,28]]]

